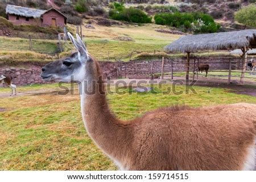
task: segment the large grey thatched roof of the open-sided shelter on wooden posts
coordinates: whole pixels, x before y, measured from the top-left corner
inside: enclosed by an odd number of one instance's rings
[[[180,37],[165,47],[171,52],[196,52],[197,50],[256,48],[256,29],[207,33]]]

